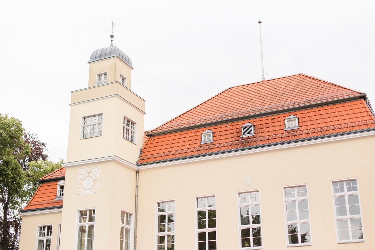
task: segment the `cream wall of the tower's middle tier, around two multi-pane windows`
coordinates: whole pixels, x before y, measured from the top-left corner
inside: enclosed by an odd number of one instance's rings
[[[104,115],[102,136],[81,139],[82,117],[96,114]],[[123,138],[124,115],[136,122],[136,144]],[[118,156],[135,164],[143,145],[143,129],[144,113],[118,96],[72,105],[67,162]]]

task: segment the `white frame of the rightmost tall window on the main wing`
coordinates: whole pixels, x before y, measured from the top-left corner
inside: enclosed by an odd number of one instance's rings
[[[348,192],[347,191],[347,187],[348,187],[347,186],[347,181],[356,181],[357,182],[357,191]],[[341,183],[341,182],[344,182],[344,192],[335,193],[334,184],[335,183]],[[333,196],[333,210],[334,210],[334,213],[335,213],[335,226],[336,226],[337,243],[357,243],[357,242],[364,242],[365,241],[365,229],[364,229],[364,226],[363,226],[363,219],[362,219],[362,207],[361,207],[361,198],[360,198],[360,195],[359,195],[358,179],[357,178],[353,178],[353,179],[344,179],[344,180],[331,181],[331,187],[332,187],[332,196]],[[348,196],[351,196],[351,195],[358,195],[359,211],[360,211],[359,215],[349,215]],[[345,197],[345,202],[346,202],[345,207],[346,207],[346,211],[347,211],[347,216],[337,216],[335,198],[336,197],[340,197],[340,196],[344,196]],[[353,219],[360,219],[361,220],[363,239],[353,240],[351,222],[349,222],[349,220],[353,220]],[[341,220],[348,220],[348,231],[349,231],[350,240],[346,240],[346,241],[345,240],[342,240],[342,241],[339,240],[338,221],[341,221]],[[353,230],[355,230],[355,229],[353,229]]]

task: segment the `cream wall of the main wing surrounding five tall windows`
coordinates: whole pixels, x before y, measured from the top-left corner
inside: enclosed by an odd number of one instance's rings
[[[208,195],[216,195],[217,249],[239,249],[237,192],[258,189],[263,249],[287,249],[282,187],[299,184],[308,187],[308,249],[372,249],[374,145],[371,136],[141,171],[137,249],[155,249],[155,205],[163,200],[175,200],[175,248],[195,249],[195,197]],[[359,181],[364,243],[337,243],[331,181],[348,178]]]

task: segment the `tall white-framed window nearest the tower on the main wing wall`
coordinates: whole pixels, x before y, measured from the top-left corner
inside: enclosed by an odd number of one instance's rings
[[[157,250],[174,250],[175,202],[157,204]]]

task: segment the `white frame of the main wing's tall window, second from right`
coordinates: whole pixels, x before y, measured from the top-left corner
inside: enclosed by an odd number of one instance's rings
[[[301,194],[302,197],[298,197],[298,188],[301,187]],[[303,189],[303,187],[306,187],[306,191]],[[286,198],[286,190],[294,188],[294,198]],[[292,186],[285,186],[283,187],[283,196],[284,196],[284,216],[285,216],[285,230],[286,230],[286,240],[287,240],[287,246],[288,247],[299,247],[299,246],[311,246],[312,245],[312,233],[311,233],[311,222],[310,222],[310,204],[309,204],[309,194],[308,194],[308,187],[307,184],[299,184],[299,185],[292,185]],[[303,196],[303,193],[306,192],[306,196]],[[289,193],[291,194],[291,192]],[[306,211],[306,210],[299,210],[299,201],[307,201],[308,203],[308,213],[309,213],[309,219],[300,219],[300,211]],[[296,217],[297,220],[289,220],[288,221],[288,211],[287,211],[287,202],[294,202],[296,204]],[[301,243],[301,231],[300,231],[300,225],[301,224],[309,224],[310,231],[309,233],[303,233],[303,234],[310,234],[310,242],[309,243]],[[290,244],[289,243],[289,231],[288,231],[288,225],[295,225],[297,224],[297,236],[298,236],[298,244]]]

